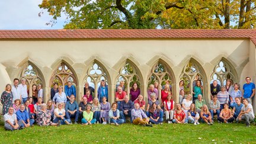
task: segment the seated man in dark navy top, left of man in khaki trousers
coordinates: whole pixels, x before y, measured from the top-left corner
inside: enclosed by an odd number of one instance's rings
[[[130,117],[130,121],[132,123],[131,111],[133,108],[133,102],[129,100],[129,96],[126,95],[124,97],[124,101],[122,101],[120,105],[120,117],[124,120],[124,123],[126,123],[126,116]]]

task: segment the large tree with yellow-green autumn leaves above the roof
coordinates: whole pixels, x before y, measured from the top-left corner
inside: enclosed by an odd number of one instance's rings
[[[65,14],[64,28],[255,28],[255,1],[43,0],[39,7],[53,16],[47,24]]]

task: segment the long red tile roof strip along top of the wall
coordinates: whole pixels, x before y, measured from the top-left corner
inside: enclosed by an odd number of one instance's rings
[[[251,39],[256,30],[0,30],[1,39]]]

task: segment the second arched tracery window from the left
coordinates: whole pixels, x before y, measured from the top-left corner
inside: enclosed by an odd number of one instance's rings
[[[62,85],[63,91],[65,91],[64,87],[67,85],[68,81],[71,81],[72,84],[76,87],[77,80],[73,70],[65,62],[62,62],[53,72],[50,85],[53,87],[53,84],[57,83],[58,85]]]

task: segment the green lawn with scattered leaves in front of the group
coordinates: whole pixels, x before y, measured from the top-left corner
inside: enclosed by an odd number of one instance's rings
[[[0,143],[256,143],[256,126],[245,124],[122,124],[34,126],[14,132],[0,126]],[[201,139],[200,139],[200,138]]]

